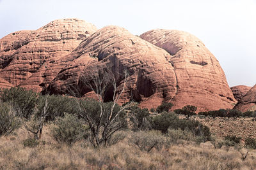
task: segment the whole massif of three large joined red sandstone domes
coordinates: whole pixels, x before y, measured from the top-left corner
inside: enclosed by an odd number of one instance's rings
[[[122,27],[97,31],[87,22],[63,19],[36,31],[13,32],[0,45],[0,82],[6,87],[95,97],[83,78],[111,67],[118,90],[124,69],[130,73],[120,104],[132,99],[156,108],[172,102],[173,109],[191,104],[207,111],[236,103],[218,60],[187,32],[157,29],[138,37]],[[109,90],[104,100],[111,96]]]

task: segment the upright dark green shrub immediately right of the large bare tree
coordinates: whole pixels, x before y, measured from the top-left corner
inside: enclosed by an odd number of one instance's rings
[[[134,107],[131,110],[130,120],[132,122],[132,130],[148,130],[150,129],[150,122],[148,122],[149,111],[147,108]]]

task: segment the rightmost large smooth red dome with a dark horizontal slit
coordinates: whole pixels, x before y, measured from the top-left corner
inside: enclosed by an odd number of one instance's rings
[[[140,38],[171,55],[168,62],[177,82],[177,92],[170,99],[173,109],[191,104],[199,111],[218,110],[236,103],[218,60],[200,39],[188,32],[164,29],[145,32]]]

